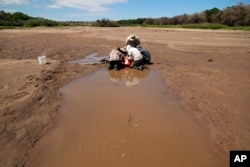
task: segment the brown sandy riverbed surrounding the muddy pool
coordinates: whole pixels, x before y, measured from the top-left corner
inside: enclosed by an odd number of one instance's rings
[[[150,50],[149,68],[208,135],[228,166],[229,150],[250,147],[250,33],[146,28],[36,28],[0,31],[0,166],[25,166],[29,152],[55,125],[59,88],[107,65],[68,61],[107,55],[137,34]],[[45,54],[49,64],[40,66]]]

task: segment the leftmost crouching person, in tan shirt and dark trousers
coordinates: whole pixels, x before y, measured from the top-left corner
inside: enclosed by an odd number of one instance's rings
[[[113,49],[109,53],[109,70],[115,69],[115,70],[120,70],[123,68],[123,59],[126,55],[126,50],[124,48],[116,48]]]

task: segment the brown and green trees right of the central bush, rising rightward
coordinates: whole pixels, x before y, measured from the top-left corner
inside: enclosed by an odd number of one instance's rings
[[[138,18],[117,21],[118,25],[187,25],[223,24],[227,26],[250,26],[250,5],[239,3],[224,10],[212,8],[200,13],[182,14],[174,17]]]

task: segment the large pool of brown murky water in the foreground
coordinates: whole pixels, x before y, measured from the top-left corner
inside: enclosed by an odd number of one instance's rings
[[[206,134],[155,72],[101,70],[61,91],[56,125],[29,166],[220,166]]]

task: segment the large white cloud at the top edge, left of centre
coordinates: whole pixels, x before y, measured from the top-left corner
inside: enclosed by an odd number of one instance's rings
[[[127,0],[53,0],[49,8],[70,7],[89,12],[102,12],[108,10],[106,5],[127,2]]]

